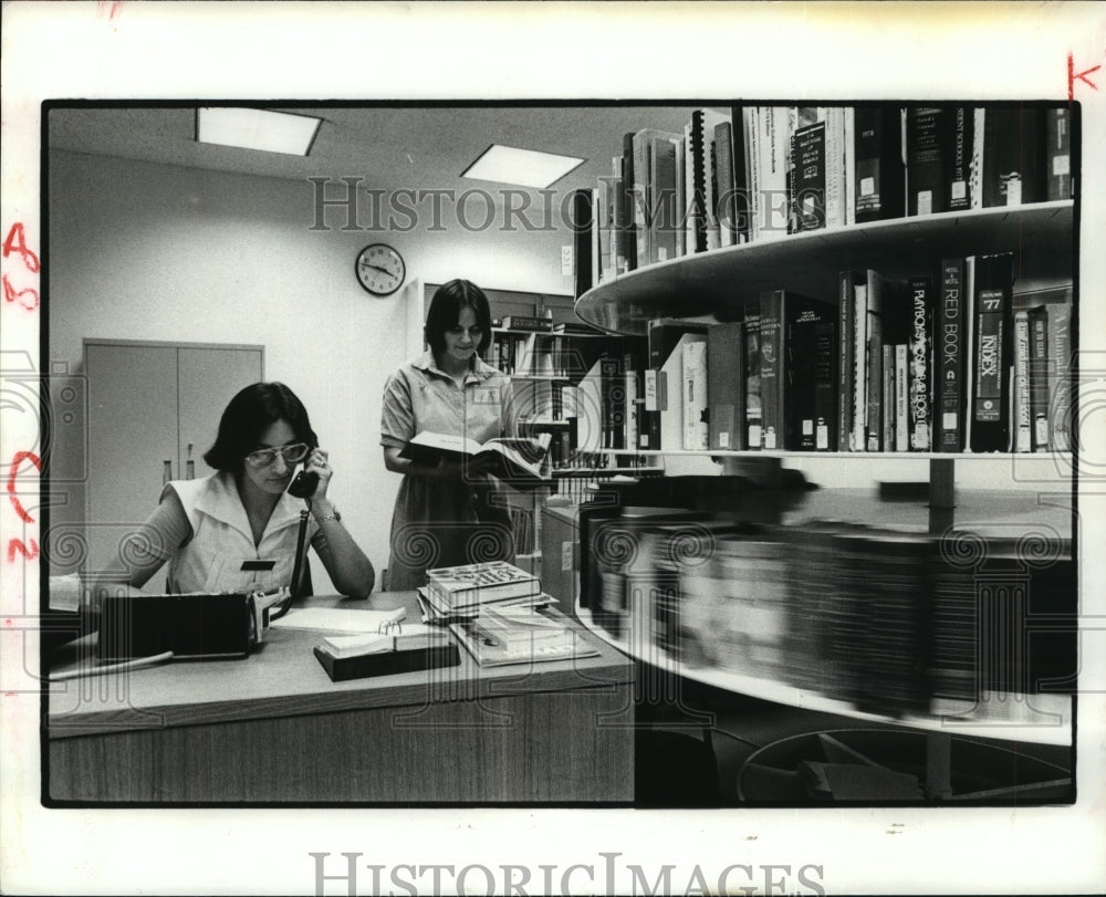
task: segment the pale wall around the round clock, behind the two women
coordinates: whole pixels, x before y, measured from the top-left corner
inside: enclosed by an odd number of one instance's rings
[[[375,299],[357,285],[357,251],[387,239],[424,282],[571,290],[555,232],[471,232],[445,218],[446,231],[382,238],[341,230],[343,216],[312,231],[305,181],[60,150],[46,174],[50,358],[77,372],[84,337],[264,345],[265,378],[307,406],[336,471],[332,496],[377,570],[399,486],[382,460],[380,394],[413,335],[405,292]]]

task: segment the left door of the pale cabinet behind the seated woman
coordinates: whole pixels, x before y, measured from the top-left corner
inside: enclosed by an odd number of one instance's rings
[[[103,570],[177,477],[176,346],[88,344],[88,557]]]

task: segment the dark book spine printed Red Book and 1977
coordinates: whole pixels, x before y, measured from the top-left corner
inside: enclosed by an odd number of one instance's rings
[[[963,259],[941,261],[941,305],[935,337],[935,379],[939,396],[935,413],[936,451],[963,451],[964,434],[964,272]]]

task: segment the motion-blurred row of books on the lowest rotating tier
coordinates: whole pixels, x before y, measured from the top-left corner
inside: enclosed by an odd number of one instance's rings
[[[779,681],[890,715],[983,692],[1031,693],[1046,679],[1072,684],[1067,542],[1043,557],[1020,539],[980,538],[978,561],[963,563],[941,538],[921,533],[651,510],[628,509],[595,529],[595,569],[582,572],[592,618],[643,659]],[[603,550],[618,539],[633,550]]]

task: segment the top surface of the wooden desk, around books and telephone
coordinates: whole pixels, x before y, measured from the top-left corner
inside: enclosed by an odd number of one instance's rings
[[[313,597],[298,606],[385,611],[400,605],[408,620],[419,619],[414,592],[385,592],[367,601]],[[332,682],[312,651],[325,635],[270,628],[246,658],[170,661],[52,682],[50,738],[609,688],[633,680],[632,664],[622,653],[583,635],[596,645],[597,656],[480,667],[459,647],[460,666]],[[95,636],[63,646],[49,659],[54,675],[94,669]]]

